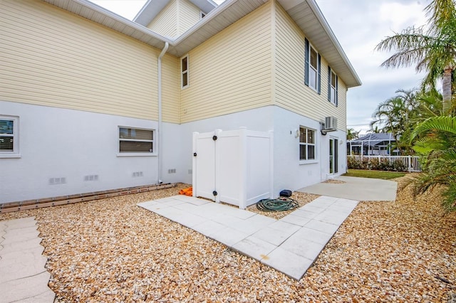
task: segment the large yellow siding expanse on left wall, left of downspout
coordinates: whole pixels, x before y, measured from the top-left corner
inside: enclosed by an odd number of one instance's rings
[[[0,100],[157,119],[157,55],[41,1],[0,1]]]

